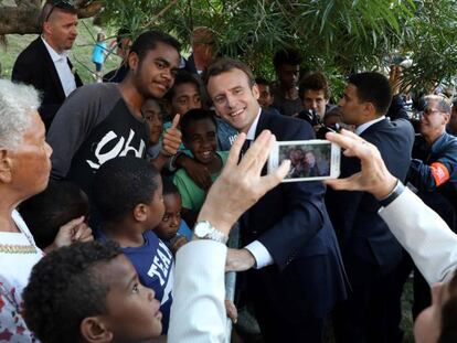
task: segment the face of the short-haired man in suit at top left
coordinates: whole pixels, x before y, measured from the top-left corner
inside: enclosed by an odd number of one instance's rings
[[[77,14],[54,8],[43,24],[44,37],[57,53],[71,50],[77,36]]]

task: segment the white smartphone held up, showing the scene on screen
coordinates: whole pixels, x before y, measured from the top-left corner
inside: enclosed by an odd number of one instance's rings
[[[322,139],[278,141],[268,158],[268,173],[284,160],[290,160],[290,170],[283,182],[337,179],[340,175],[341,149]]]

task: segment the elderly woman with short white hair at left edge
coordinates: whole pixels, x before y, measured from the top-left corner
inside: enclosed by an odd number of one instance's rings
[[[21,293],[43,253],[15,207],[47,185],[52,149],[38,92],[0,79],[0,341],[32,342],[20,314]],[[61,227],[53,247],[72,242]],[[87,237],[87,235],[84,235]]]

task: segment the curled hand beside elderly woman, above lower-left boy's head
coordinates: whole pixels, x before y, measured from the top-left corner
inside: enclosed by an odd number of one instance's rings
[[[84,216],[81,216],[61,226],[59,228],[59,232],[57,232],[57,235],[55,236],[54,242],[50,246],[45,247],[44,251],[50,253],[52,250],[62,248],[64,246],[68,246],[76,240],[81,240],[81,239],[85,239],[83,242],[94,239],[94,237],[89,239],[88,236],[92,237],[92,231],[84,223]]]

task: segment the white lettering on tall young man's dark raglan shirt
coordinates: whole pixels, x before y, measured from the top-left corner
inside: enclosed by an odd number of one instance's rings
[[[95,157],[97,158],[97,162],[94,162],[91,160],[86,160],[86,162],[88,163],[88,165],[91,165],[92,169],[98,169],[106,161],[109,161],[117,157],[127,156],[127,153],[129,152],[132,152],[135,157],[137,158],[141,158],[146,149],[146,143],[141,139],[140,147],[138,150],[135,149],[134,147],[130,147],[130,143],[134,137],[135,137],[135,131],[130,129],[130,133],[128,136],[126,144],[124,144],[126,139],[124,137],[119,137],[119,141],[116,143],[116,146],[111,150],[109,150],[108,152],[102,152],[103,148],[108,142],[117,138],[117,135],[114,131],[109,131],[108,133],[104,136],[104,138],[102,138],[102,140],[97,144],[97,148],[95,149]]]

